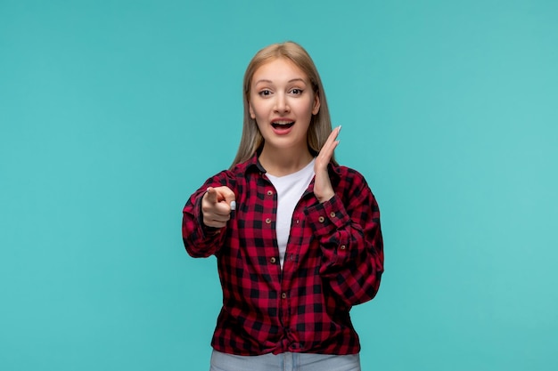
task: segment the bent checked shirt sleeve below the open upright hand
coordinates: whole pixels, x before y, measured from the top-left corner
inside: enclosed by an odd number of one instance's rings
[[[383,272],[380,209],[364,177],[357,175],[341,181],[350,189],[307,209],[323,256],[320,275],[348,307],[373,299]]]

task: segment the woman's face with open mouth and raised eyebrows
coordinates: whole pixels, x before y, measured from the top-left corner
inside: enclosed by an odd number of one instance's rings
[[[308,126],[320,100],[291,60],[277,58],[256,69],[249,103],[266,149],[308,149]]]

